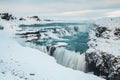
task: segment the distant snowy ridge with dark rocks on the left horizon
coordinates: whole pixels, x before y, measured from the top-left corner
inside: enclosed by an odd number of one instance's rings
[[[43,24],[53,22],[51,19],[40,19],[38,16],[15,17],[10,13],[0,13],[0,18],[6,21],[14,21],[17,24]]]

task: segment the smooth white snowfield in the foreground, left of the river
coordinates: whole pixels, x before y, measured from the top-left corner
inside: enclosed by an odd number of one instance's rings
[[[23,47],[13,38],[17,25],[0,20],[1,80],[103,80],[92,74],[63,67],[38,50]],[[12,24],[12,25],[11,25]]]

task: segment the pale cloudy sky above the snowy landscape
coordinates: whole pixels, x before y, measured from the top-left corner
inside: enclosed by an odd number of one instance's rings
[[[120,0],[0,0],[0,12],[58,20],[120,16]]]

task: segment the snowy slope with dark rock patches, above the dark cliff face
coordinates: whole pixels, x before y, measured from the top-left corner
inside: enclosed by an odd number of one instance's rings
[[[95,21],[89,32],[88,52],[120,55],[120,17]]]

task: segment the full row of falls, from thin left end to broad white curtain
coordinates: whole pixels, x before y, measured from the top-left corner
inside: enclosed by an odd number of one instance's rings
[[[56,59],[58,64],[86,72],[85,54],[67,50],[63,47],[39,46],[29,43],[27,46],[38,49]]]

